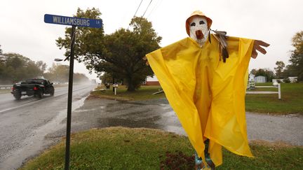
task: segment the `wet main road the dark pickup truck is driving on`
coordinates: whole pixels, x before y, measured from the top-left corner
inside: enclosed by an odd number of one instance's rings
[[[73,108],[95,85],[74,85]],[[55,87],[55,95],[42,99],[22,97],[16,101],[12,94],[0,94],[0,169],[16,169],[29,157],[55,142],[46,134],[60,129],[67,115],[67,86]],[[65,127],[66,128],[66,127]]]

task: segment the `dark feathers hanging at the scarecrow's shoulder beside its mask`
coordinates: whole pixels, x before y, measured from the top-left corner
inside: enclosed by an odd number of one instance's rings
[[[217,39],[217,41],[219,42],[219,46],[220,46],[220,60],[221,60],[221,55],[223,58],[223,62],[225,63],[227,58],[229,57],[229,53],[227,50],[227,32],[226,31],[215,31],[215,30],[211,30],[213,31],[215,34],[215,38]]]

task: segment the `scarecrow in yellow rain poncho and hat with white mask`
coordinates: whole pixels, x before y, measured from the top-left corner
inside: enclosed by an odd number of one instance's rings
[[[263,41],[226,36],[195,11],[186,20],[189,35],[146,55],[166,97],[196,150],[196,169],[222,164],[222,146],[253,157],[245,122],[245,89],[250,57]],[[210,34],[213,31],[214,34]]]

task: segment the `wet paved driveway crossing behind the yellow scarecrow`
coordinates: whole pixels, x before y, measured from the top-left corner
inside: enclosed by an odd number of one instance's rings
[[[246,113],[246,120],[249,141],[279,141],[303,146],[302,115]],[[113,126],[147,127],[186,135],[166,99],[113,101],[90,97],[72,115],[72,132]],[[59,134],[65,135],[65,129],[48,136]]]

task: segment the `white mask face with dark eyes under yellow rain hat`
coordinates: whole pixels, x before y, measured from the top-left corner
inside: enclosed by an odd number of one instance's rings
[[[194,16],[189,22],[189,34],[201,47],[208,39],[208,23],[205,17]]]

